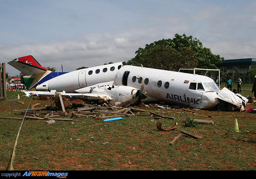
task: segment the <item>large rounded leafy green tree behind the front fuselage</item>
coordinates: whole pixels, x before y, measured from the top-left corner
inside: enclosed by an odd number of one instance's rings
[[[217,69],[220,55],[213,55],[209,48],[192,36],[175,34],[173,39],[163,39],[139,48],[129,65],[143,64],[145,67],[178,71],[180,68]]]

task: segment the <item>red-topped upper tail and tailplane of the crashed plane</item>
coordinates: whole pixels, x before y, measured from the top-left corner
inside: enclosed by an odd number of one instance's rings
[[[21,58],[15,58],[7,64],[22,72],[24,75],[35,75],[48,71],[41,66],[31,55]]]

